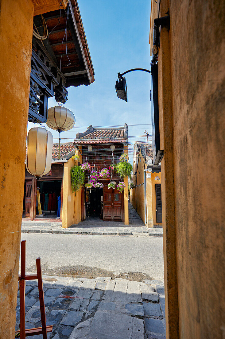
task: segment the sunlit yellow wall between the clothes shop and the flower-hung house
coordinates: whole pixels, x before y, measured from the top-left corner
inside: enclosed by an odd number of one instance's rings
[[[72,193],[70,169],[74,166],[74,159],[64,163],[63,173],[63,198],[62,198],[62,228],[68,228],[72,224],[78,224],[81,220],[81,190]],[[78,160],[75,160],[78,166]]]

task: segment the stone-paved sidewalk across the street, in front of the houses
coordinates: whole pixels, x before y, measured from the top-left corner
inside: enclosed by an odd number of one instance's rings
[[[69,228],[60,226],[41,226],[37,223],[30,225],[22,224],[22,233],[57,233],[57,234],[79,234],[79,235],[134,235],[134,236],[162,236],[162,228],[147,228],[138,213],[129,203],[129,225],[124,222],[103,221],[99,218],[90,218],[79,224],[74,224]]]

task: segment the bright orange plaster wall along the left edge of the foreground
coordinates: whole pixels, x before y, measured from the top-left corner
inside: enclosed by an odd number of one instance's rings
[[[15,338],[34,6],[0,1],[0,337]]]

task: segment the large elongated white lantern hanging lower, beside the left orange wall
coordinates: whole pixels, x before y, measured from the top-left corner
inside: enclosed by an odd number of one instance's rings
[[[52,165],[53,136],[42,127],[31,128],[27,136],[27,171],[39,178],[47,174]]]

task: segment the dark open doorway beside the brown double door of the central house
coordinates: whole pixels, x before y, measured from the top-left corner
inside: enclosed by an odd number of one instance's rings
[[[86,220],[103,218],[103,188],[86,189]]]

